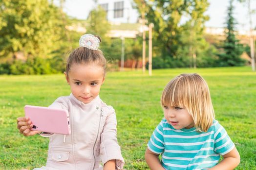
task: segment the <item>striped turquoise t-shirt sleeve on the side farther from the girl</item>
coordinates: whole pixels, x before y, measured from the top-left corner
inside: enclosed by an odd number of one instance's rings
[[[224,155],[233,150],[234,147],[235,144],[228,136],[227,131],[219,123],[216,123],[214,134],[214,151]]]

